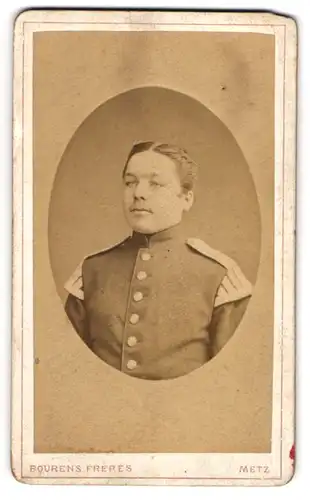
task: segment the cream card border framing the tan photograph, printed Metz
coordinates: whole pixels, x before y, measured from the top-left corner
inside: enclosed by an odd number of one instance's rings
[[[32,53],[38,31],[216,31],[275,36],[275,320],[272,451],[270,454],[34,454]],[[270,485],[292,476],[295,342],[296,25],[258,13],[26,11],[14,36],[14,207],[12,468],[27,483]],[[111,464],[109,477],[89,472]],[[130,463],[139,477],[113,472]],[[36,464],[33,473],[30,465]],[[38,466],[58,465],[57,473]],[[59,466],[73,471],[60,472]],[[184,470],[187,473],[184,475]],[[25,471],[27,470],[27,473]],[[38,470],[42,472],[38,472]],[[55,470],[55,468],[54,468]],[[79,471],[80,470],[80,471]],[[27,474],[27,475],[26,475]]]

